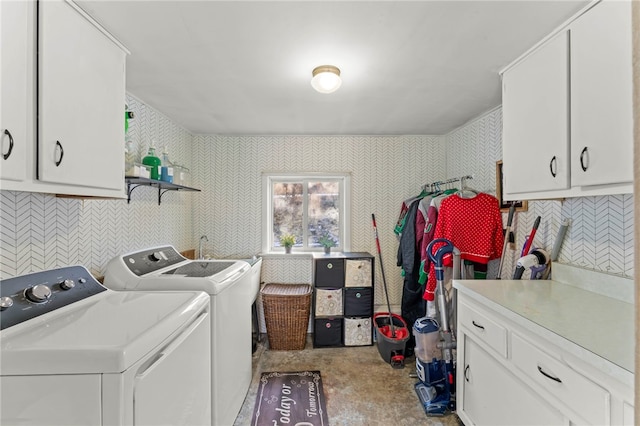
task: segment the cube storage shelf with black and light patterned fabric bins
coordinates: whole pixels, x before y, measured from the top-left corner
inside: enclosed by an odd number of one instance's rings
[[[314,348],[373,345],[374,262],[362,252],[314,255]]]

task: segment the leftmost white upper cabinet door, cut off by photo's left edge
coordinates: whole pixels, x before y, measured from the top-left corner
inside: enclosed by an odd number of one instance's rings
[[[0,178],[26,177],[28,10],[26,1],[0,2]]]

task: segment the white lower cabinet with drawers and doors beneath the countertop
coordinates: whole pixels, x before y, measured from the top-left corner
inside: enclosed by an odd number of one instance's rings
[[[458,294],[457,414],[465,425],[633,424],[629,392],[527,321]]]

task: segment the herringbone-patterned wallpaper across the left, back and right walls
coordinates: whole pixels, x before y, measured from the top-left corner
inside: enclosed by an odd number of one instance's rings
[[[193,171],[200,193],[171,192],[158,206],[157,191],[138,188],[126,200],[78,200],[0,191],[0,277],[70,264],[102,275],[106,263],[125,252],[161,244],[197,246],[216,257],[245,257],[261,250],[261,173],[350,172],[352,249],[376,253],[371,213],[376,214],[391,302],[399,303],[402,279],[395,265],[393,234],[402,200],[434,180],[473,175],[469,185],[495,195],[495,162],[501,158],[502,110],[445,136],[212,136],[192,135],[129,96],[135,119],[129,135],[139,157],[152,140],[160,151]],[[123,143],[124,149],[124,143]],[[523,159],[526,161],[526,159]],[[517,251],[508,253],[503,276],[517,260],[536,216],[536,245],[551,249],[560,224],[571,220],[560,261],[632,277],[633,195],[529,202],[514,221]],[[506,214],[503,216],[506,222]],[[283,261],[265,262],[263,280],[308,282],[311,270]],[[491,271],[497,265],[491,265]],[[288,272],[287,272],[288,271]],[[382,303],[376,267],[376,302]]]

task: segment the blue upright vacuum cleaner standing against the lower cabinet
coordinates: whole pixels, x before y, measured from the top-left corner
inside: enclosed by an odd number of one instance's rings
[[[444,243],[435,254],[434,244]],[[420,381],[415,390],[427,416],[442,416],[455,411],[455,360],[453,349],[455,338],[449,326],[449,310],[444,291],[445,255],[460,255],[451,241],[438,238],[427,246],[427,255],[436,272],[436,299],[440,323],[434,318],[423,317],[416,320],[413,333],[416,337],[416,373]],[[454,256],[455,259],[455,256]],[[456,267],[454,262],[454,268]]]

